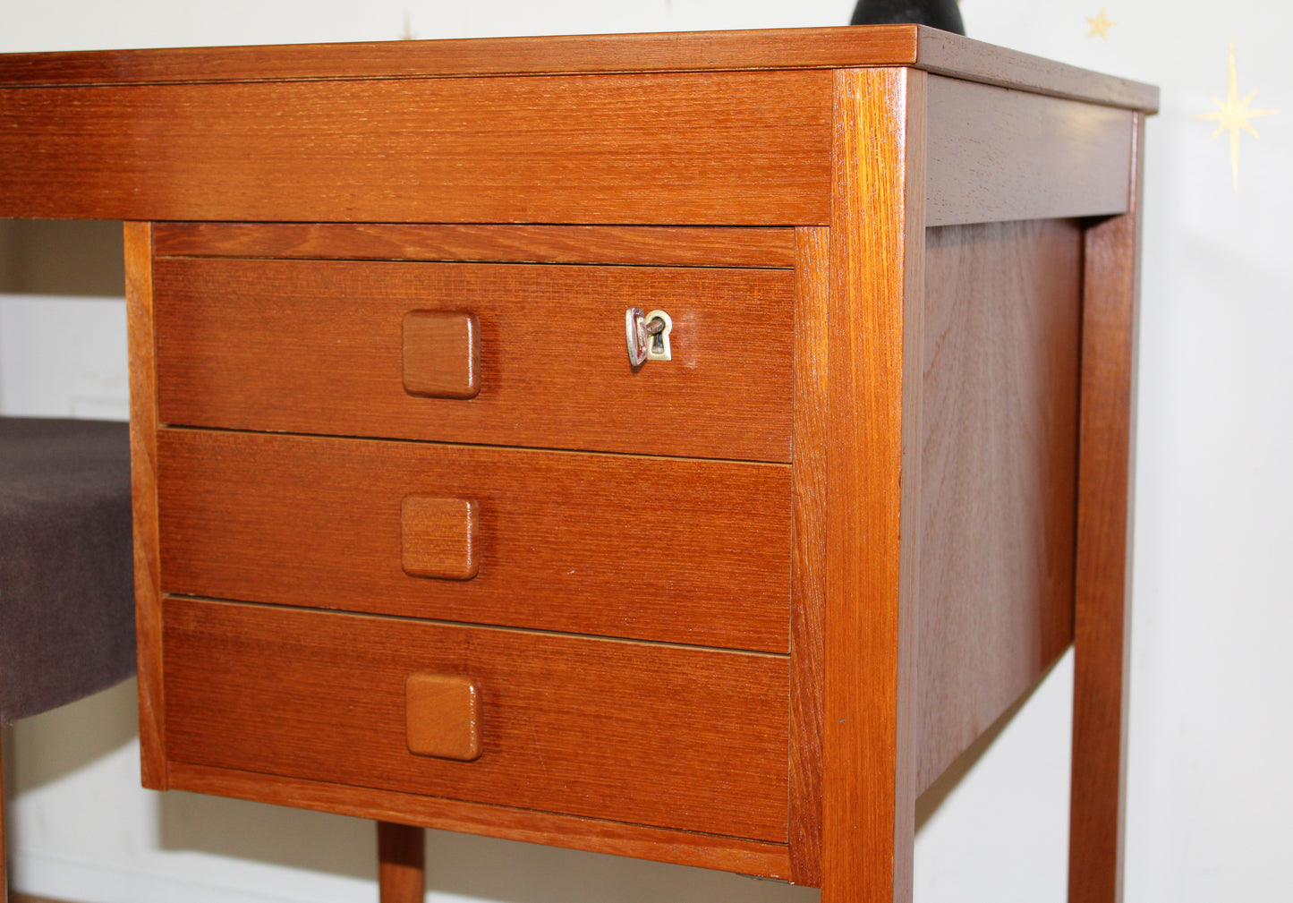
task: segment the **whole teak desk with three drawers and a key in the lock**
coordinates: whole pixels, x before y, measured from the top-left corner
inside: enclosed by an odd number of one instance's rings
[[[422,827],[909,900],[1074,643],[1116,900],[1156,103],[914,26],[0,58],[0,215],[127,220],[144,783],[376,819],[384,900]]]

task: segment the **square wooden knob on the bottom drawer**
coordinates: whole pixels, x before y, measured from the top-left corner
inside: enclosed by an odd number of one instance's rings
[[[460,762],[480,758],[480,696],[469,678],[411,674],[405,691],[410,753]]]

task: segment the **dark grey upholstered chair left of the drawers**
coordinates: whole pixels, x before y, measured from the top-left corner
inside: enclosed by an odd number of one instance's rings
[[[134,673],[129,458],[124,423],[0,418],[0,724]]]

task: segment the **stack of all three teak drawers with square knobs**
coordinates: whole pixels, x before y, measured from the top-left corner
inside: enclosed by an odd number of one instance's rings
[[[793,269],[153,233],[171,774],[785,849]],[[760,263],[745,241],[707,257]],[[668,360],[630,360],[634,308],[668,314]],[[464,723],[468,754],[418,752]]]

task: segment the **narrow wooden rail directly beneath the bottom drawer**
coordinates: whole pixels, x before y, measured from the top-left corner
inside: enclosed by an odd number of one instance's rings
[[[197,793],[255,800],[367,819],[400,820],[442,831],[546,843],[572,850],[718,868],[785,878],[785,843],[763,843],[720,834],[648,828],[637,824],[555,815],[534,810],[462,802],[392,790],[296,778],[259,775],[176,762],[172,787]]]

